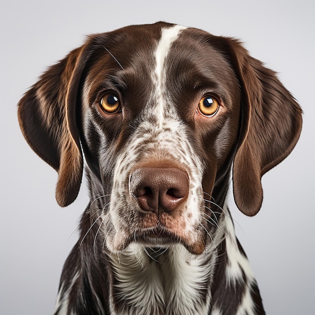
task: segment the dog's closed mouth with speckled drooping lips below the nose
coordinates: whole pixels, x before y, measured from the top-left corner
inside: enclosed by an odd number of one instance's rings
[[[191,217],[186,214],[185,211],[160,215],[152,211],[139,211],[129,221],[125,220],[123,225],[113,225],[114,228],[106,232],[107,248],[111,252],[123,253],[132,244],[143,248],[181,245],[189,253],[200,255],[211,243],[212,232],[205,227],[206,222],[195,220],[192,223]]]

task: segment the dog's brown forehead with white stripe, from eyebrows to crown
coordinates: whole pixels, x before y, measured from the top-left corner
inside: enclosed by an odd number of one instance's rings
[[[165,23],[100,34],[86,80],[90,101],[99,91],[112,88],[132,96],[136,104],[166,90],[177,101],[198,89],[212,92],[211,88],[230,103],[238,80],[211,38],[215,37],[202,30]]]

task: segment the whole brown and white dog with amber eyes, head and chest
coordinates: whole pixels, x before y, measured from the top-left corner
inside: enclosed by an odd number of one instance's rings
[[[91,194],[54,314],[264,314],[226,195],[232,174],[237,207],[260,210],[301,114],[238,40],[164,22],[89,36],[51,66],[20,126],[60,206],[84,164]]]

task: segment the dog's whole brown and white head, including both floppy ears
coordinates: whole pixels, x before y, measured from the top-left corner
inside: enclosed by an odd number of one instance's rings
[[[262,175],[301,128],[294,99],[239,42],[165,23],[91,36],[24,96],[19,118],[58,171],[61,206],[80,188],[82,146],[89,211],[113,252],[135,241],[201,254],[232,163],[235,202],[254,215]]]

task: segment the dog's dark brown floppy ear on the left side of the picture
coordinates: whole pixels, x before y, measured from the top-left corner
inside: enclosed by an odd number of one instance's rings
[[[58,172],[56,200],[73,202],[81,186],[83,155],[76,127],[76,97],[88,56],[84,46],[50,67],[19,103],[23,135],[32,149]]]

